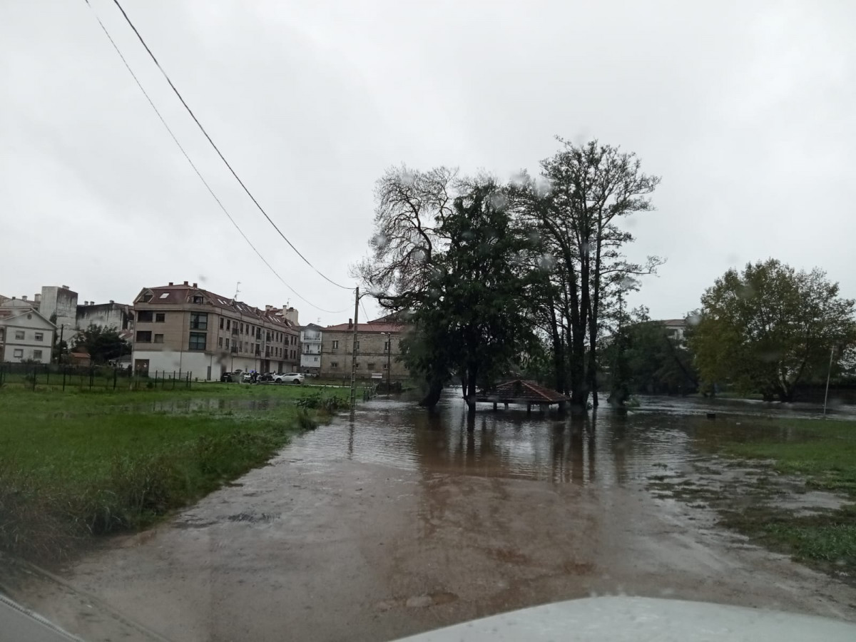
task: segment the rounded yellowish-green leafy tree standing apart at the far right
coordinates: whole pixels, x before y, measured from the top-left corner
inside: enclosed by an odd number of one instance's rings
[[[822,270],[794,270],[776,259],[728,270],[702,296],[690,337],[705,383],[792,401],[800,381],[820,377],[856,340],[851,299]]]

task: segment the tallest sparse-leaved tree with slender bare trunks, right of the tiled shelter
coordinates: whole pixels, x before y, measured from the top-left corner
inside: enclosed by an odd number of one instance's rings
[[[524,175],[514,202],[537,224],[545,252],[555,259],[554,354],[567,346],[562,356],[568,360],[571,402],[585,407],[591,393],[597,405],[597,342],[610,292],[627,275],[650,274],[663,263],[657,257],[641,265],[627,261],[621,248],[633,235],[619,226],[621,217],[653,209],[648,196],[660,179],[642,173],[639,158],[617,147],[558,140],[562,149],[541,163],[547,187]],[[565,382],[558,377],[556,389],[562,389]]]

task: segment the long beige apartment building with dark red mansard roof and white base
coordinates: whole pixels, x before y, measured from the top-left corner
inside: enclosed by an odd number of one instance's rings
[[[294,372],[300,362],[297,327],[278,308],[265,310],[187,281],[143,288],[134,298],[136,372]]]

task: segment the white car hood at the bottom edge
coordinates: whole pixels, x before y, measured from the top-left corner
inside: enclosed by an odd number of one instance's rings
[[[856,624],[814,615],[651,597],[589,597],[492,615],[399,642],[853,642]]]

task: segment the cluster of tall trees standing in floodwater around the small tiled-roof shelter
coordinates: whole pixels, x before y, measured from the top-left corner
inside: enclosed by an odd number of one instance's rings
[[[628,261],[620,223],[652,209],[659,178],[632,153],[558,140],[538,177],[401,167],[377,181],[371,253],[354,271],[413,323],[404,359],[427,406],[457,377],[472,409],[478,387],[514,370],[538,370],[572,407],[599,401],[599,342],[632,276],[663,262]]]

